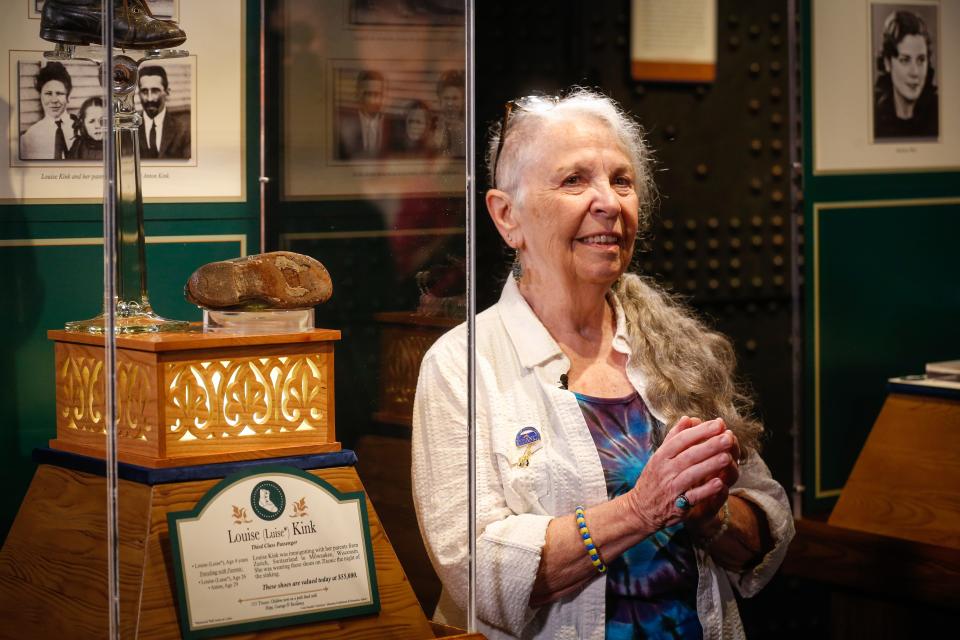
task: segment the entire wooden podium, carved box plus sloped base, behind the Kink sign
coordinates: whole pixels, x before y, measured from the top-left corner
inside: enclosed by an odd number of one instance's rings
[[[51,331],[57,437],[0,551],[0,637],[108,634],[103,340]],[[356,456],[334,437],[338,331],[117,339],[120,632],[179,638],[167,513],[193,508],[222,478],[263,464],[362,491]],[[228,637],[432,638],[432,626],[367,499],[378,614]],[[225,636],[227,637],[227,636]],[[480,637],[471,634],[459,637]]]

